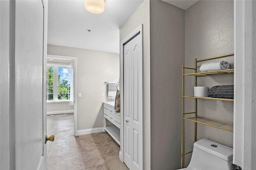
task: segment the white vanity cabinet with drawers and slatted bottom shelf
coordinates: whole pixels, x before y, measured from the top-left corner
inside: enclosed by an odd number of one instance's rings
[[[103,102],[103,124],[104,130],[120,145],[120,113],[116,113],[114,103]],[[107,126],[107,119],[114,125]]]

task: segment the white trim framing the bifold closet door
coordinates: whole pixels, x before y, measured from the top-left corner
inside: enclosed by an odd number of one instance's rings
[[[138,32],[140,32],[140,34],[142,35],[142,41],[143,41],[143,24],[141,24],[140,26],[138,26],[132,33],[130,33],[126,38],[124,38],[124,40],[121,41],[121,56],[120,56],[120,111],[121,111],[121,141],[120,141],[120,152],[119,152],[119,158],[122,162],[124,162],[124,43],[126,43],[128,40],[130,40],[132,37],[134,37],[136,34],[138,34]],[[142,42],[142,46],[143,46],[143,42]],[[143,50],[142,50],[142,57],[143,57]],[[143,59],[143,58],[142,58]],[[142,61],[143,63],[143,61]],[[143,65],[142,65],[143,67]],[[143,69],[142,69],[143,71]],[[143,73],[142,73],[142,77],[143,77]],[[142,80],[143,81],[143,80]],[[143,83],[143,82],[142,82]],[[143,99],[143,96],[142,96]],[[142,102],[143,103],[143,102]],[[143,108],[143,107],[142,107]],[[143,112],[142,112],[143,113]],[[143,117],[142,117],[143,118]],[[142,127],[140,127],[141,132],[143,133],[143,122],[142,122]],[[143,145],[143,134],[142,134],[142,145]],[[143,147],[143,146],[142,146]],[[142,150],[143,152],[143,150]],[[142,158],[143,161],[143,158]],[[142,168],[143,168],[143,162],[142,162]]]

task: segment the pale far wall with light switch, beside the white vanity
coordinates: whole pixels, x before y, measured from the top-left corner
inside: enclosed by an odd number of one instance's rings
[[[103,127],[105,81],[119,81],[119,54],[48,45],[48,54],[77,57],[77,130]],[[104,97],[101,97],[104,92]]]

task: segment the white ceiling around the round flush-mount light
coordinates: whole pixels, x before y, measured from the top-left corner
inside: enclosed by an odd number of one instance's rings
[[[197,1],[164,0],[184,10]],[[84,0],[49,0],[48,44],[119,53],[119,28],[142,2],[105,0],[105,11],[92,14]]]

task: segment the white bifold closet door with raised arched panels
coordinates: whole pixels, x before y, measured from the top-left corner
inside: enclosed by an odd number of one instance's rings
[[[142,169],[142,33],[124,45],[124,163]]]

